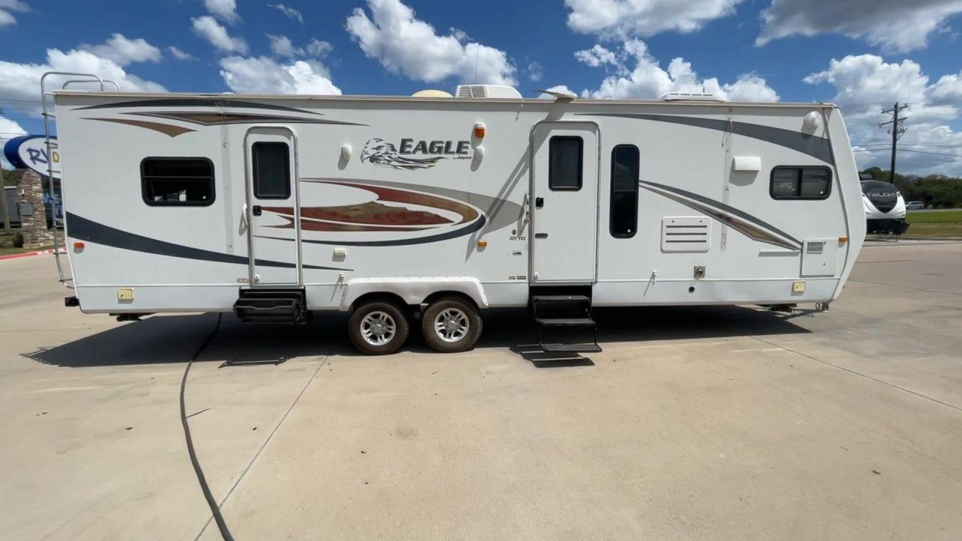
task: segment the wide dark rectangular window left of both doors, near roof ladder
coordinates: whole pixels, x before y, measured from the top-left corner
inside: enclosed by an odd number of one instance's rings
[[[214,202],[214,164],[207,158],[144,158],[140,193],[152,207],[206,207]]]

